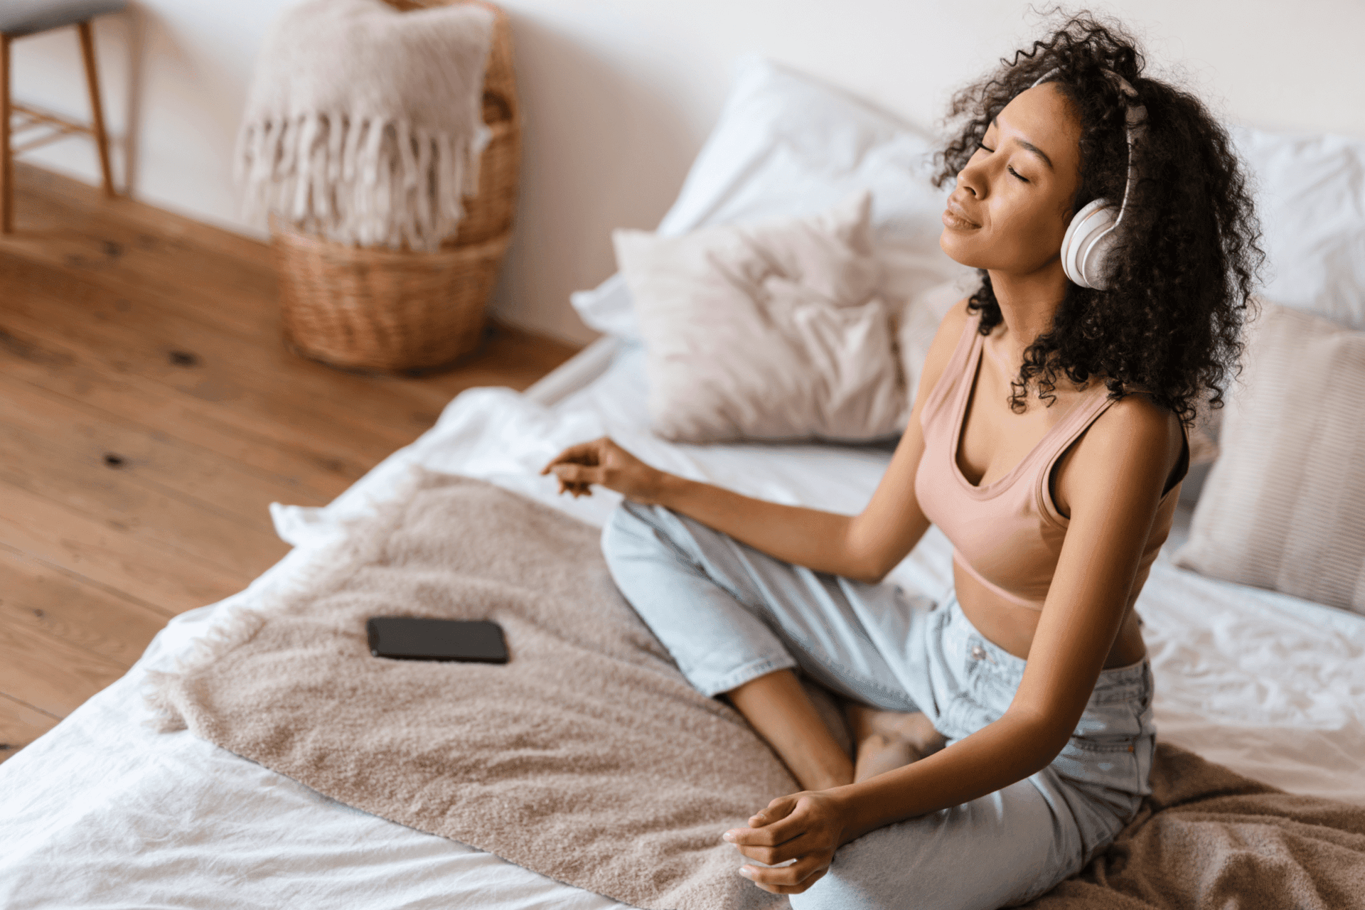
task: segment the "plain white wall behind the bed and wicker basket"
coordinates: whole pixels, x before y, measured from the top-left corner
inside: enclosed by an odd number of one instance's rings
[[[97,23],[116,173],[146,202],[251,233],[231,153],[255,48],[289,0],[142,0]],[[594,336],[571,291],[614,269],[609,232],[658,222],[759,52],[932,128],[961,85],[1037,33],[1025,0],[505,0],[526,117],[516,241],[494,295],[511,322]],[[1365,136],[1358,0],[1121,0],[1159,70],[1230,121]],[[85,115],[74,31],[15,45],[15,97]],[[89,143],[33,158],[94,180]]]

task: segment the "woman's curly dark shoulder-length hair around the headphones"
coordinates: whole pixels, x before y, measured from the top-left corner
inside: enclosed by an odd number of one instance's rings
[[[947,119],[961,126],[939,154],[935,186],[957,176],[1014,96],[1057,70],[1048,82],[1081,124],[1073,211],[1100,196],[1117,202],[1127,180],[1126,108],[1104,71],[1123,76],[1147,106],[1108,288],[1067,282],[1051,330],[1028,347],[1010,382],[1016,412],[1026,408],[1029,382],[1051,405],[1059,374],[1074,383],[1093,375],[1111,398],[1145,392],[1192,426],[1205,396],[1211,408],[1223,405],[1222,390],[1239,370],[1241,329],[1265,259],[1248,180],[1218,120],[1188,91],[1143,75],[1144,65],[1119,25],[1080,12],[951,100]],[[986,270],[968,310],[981,312],[981,334],[1002,321]]]

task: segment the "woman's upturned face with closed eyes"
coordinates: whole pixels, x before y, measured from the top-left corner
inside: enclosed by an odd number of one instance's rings
[[[957,262],[1007,274],[1057,263],[1080,181],[1081,124],[1043,83],[1010,101],[957,175],[939,246]]]

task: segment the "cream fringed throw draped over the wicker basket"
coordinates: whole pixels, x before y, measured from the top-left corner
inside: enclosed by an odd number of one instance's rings
[[[340,243],[435,250],[478,190],[493,14],[307,0],[261,46],[236,172],[248,218]]]

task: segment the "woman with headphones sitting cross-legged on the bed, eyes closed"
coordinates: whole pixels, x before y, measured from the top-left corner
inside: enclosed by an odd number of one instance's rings
[[[804,787],[723,835],[796,907],[1024,902],[1149,791],[1133,603],[1260,251],[1226,132],[1143,64],[1082,15],[956,97],[940,244],[981,285],[943,319],[860,514],[670,476],[605,438],[545,468],[561,493],[625,495],[603,532],[621,591]],[[1059,258],[1099,198],[1126,199],[1103,291]],[[936,600],[882,583],[931,523],[954,544]],[[846,700],[854,759],[797,669]]]

